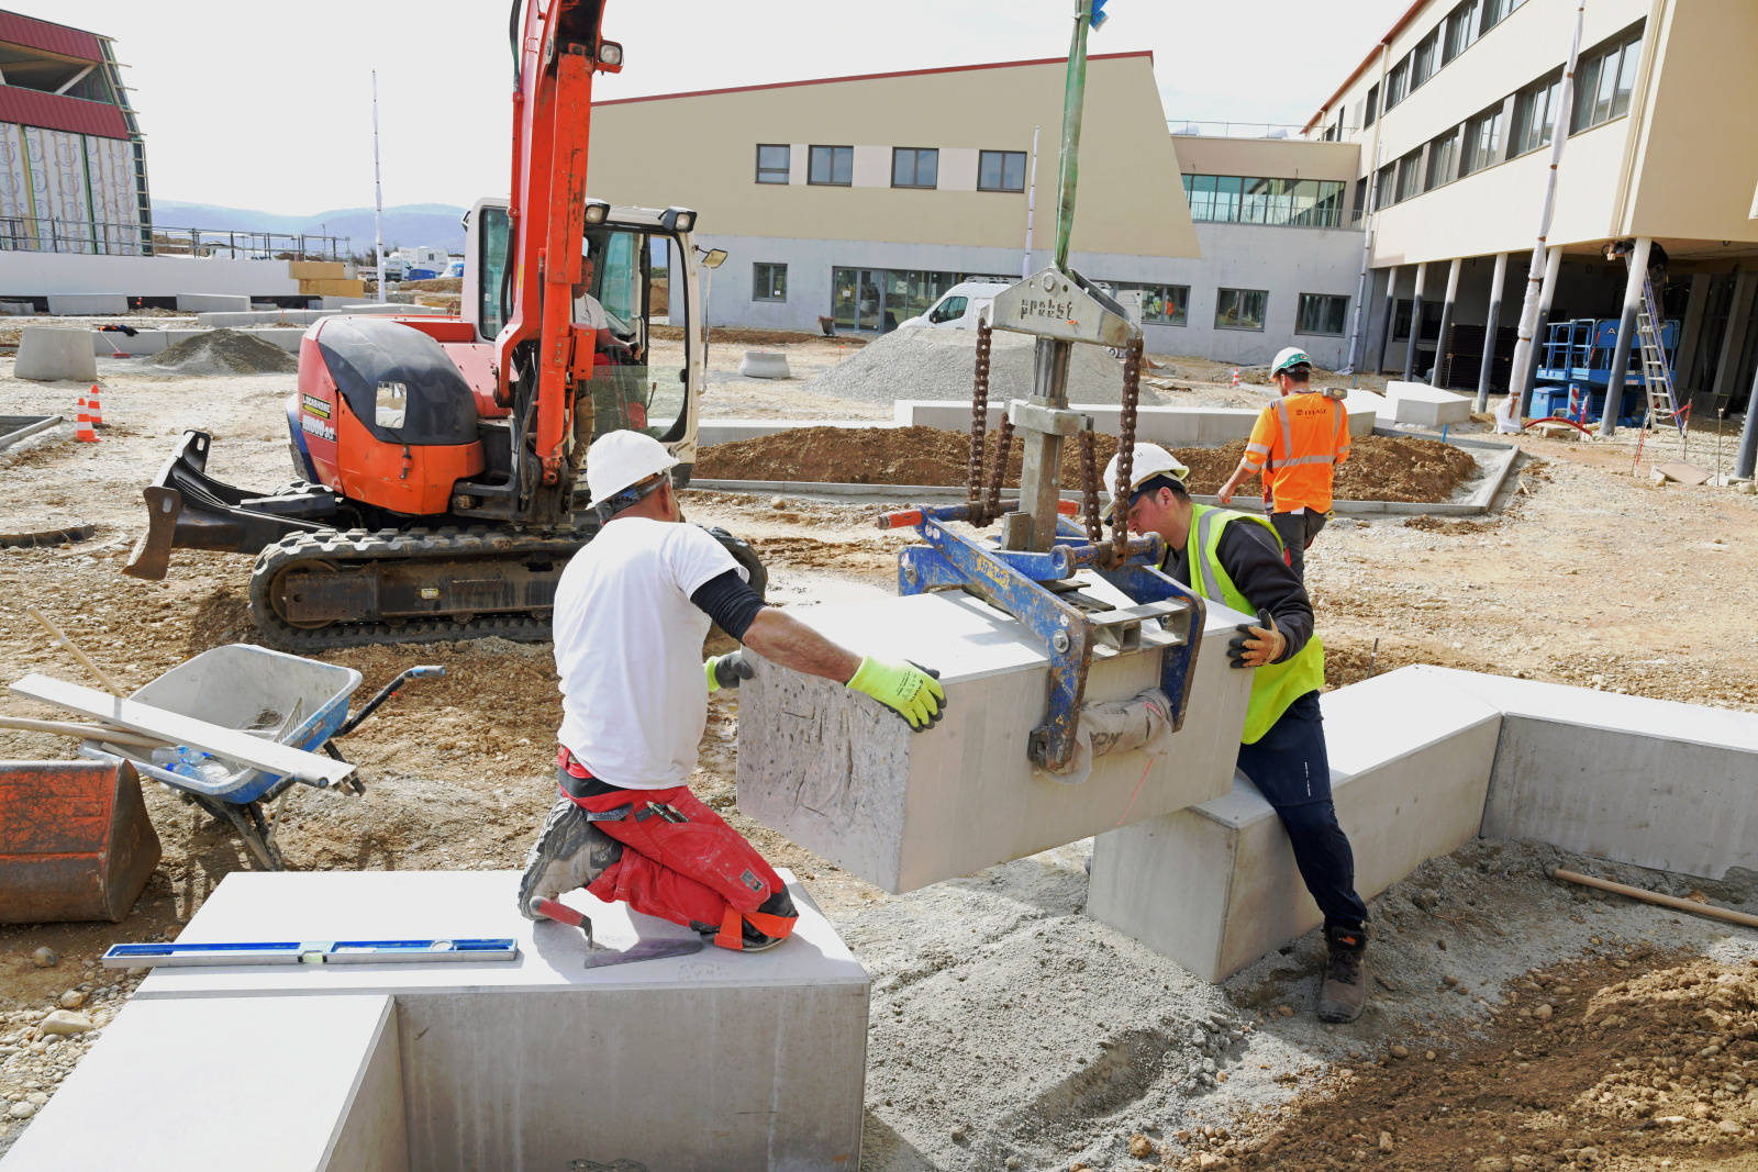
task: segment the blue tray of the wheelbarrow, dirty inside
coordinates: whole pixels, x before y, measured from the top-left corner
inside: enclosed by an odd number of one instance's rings
[[[209,724],[253,731],[280,729],[297,705],[299,722],[278,740],[283,745],[316,752],[348,719],[348,696],[357,687],[360,687],[360,673],[353,668],[316,662],[250,643],[229,643],[178,664],[151,684],[142,685],[130,699]],[[153,764],[151,750],[102,740],[84,742],[79,747],[79,756],[127,757],[142,777],[230,805],[248,805],[272,796],[272,791],[283,789],[281,782],[287,780],[280,773],[241,768],[218,782],[204,782]]]

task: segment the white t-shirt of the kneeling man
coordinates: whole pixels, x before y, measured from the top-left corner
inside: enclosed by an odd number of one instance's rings
[[[689,601],[745,571],[696,525],[624,517],[573,555],[556,587],[557,738],[592,777],[624,789],[682,785],[708,722],[701,641]]]

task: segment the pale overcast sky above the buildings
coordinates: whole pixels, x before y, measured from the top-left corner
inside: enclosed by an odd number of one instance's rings
[[[306,214],[469,206],[510,170],[510,4],[0,0],[114,37],[153,195]],[[1092,53],[1153,49],[1169,119],[1304,123],[1408,0],[1109,0]],[[1067,53],[1072,0],[607,0],[628,65],[594,97]]]

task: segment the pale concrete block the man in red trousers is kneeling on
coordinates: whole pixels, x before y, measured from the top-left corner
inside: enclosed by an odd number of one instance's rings
[[[211,1031],[234,998],[394,998],[408,1167],[424,1172],[854,1167],[868,979],[782,879],[800,921],[781,947],[585,968],[577,930],[519,914],[517,872],[232,873],[181,940],[512,937],[519,959],[160,968],[135,1002],[197,1002]],[[698,938],[584,891],[564,901],[615,949]],[[216,1037],[251,1053],[243,1028]]]

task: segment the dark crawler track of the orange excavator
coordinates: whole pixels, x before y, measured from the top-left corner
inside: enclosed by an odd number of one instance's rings
[[[763,592],[766,575],[749,545],[724,529],[710,529],[728,552],[749,571],[751,585]],[[448,643],[454,640],[482,640],[499,636],[517,643],[543,643],[550,638],[550,599],[554,582],[592,531],[571,529],[550,534],[512,532],[492,525],[440,529],[350,529],[327,532],[295,532],[262,550],[250,575],[250,617],[262,631],[264,641],[285,652],[311,654],[341,647],[369,647],[380,643]],[[536,564],[541,569],[529,571]],[[425,568],[431,575],[424,575]],[[459,587],[476,580],[459,573],[480,569],[487,573],[513,571],[531,578],[527,603],[520,610],[483,604],[447,604]],[[424,592],[434,592],[436,608],[420,615],[373,617],[371,606],[357,606],[360,619],[318,620],[301,626],[290,619],[288,582],[301,575],[350,575],[367,580],[378,573],[397,575],[408,589],[411,583]],[[339,580],[339,578],[336,578]],[[424,585],[425,583],[425,585]],[[355,592],[357,596],[360,592]],[[376,597],[376,590],[366,590]]]

